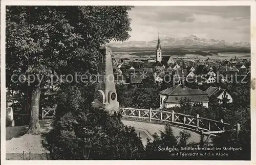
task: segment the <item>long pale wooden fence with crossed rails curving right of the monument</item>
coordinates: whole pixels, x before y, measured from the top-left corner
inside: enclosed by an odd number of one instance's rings
[[[240,131],[240,125],[236,126],[224,123],[223,120],[215,121],[196,116],[177,113],[174,111],[168,112],[163,110],[136,109],[136,108],[120,108],[123,117],[128,119],[144,120],[148,122],[169,123],[193,129],[196,131],[203,130],[204,134],[223,133],[228,130]]]

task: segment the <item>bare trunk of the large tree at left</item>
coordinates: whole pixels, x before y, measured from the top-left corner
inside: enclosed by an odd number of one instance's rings
[[[40,87],[35,87],[33,89],[31,98],[31,113],[28,133],[40,134],[39,125],[39,102],[40,102]]]

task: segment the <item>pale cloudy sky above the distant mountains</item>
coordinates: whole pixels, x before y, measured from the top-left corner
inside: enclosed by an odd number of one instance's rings
[[[130,39],[187,37],[250,42],[250,6],[135,6]]]

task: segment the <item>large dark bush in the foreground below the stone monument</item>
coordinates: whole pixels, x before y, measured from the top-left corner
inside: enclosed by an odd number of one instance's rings
[[[141,159],[143,145],[135,129],[124,126],[120,114],[83,106],[82,95],[70,87],[57,106],[43,144],[51,159]]]

